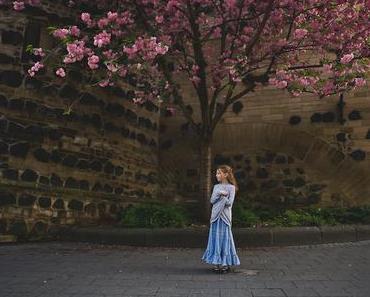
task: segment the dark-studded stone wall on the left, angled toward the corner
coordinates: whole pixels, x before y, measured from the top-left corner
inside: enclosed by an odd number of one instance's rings
[[[70,17],[52,4],[0,10],[0,234],[111,221],[157,195],[159,110],[132,103],[133,78],[102,90],[78,70],[26,75],[25,47],[52,45],[47,25]]]

